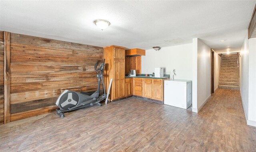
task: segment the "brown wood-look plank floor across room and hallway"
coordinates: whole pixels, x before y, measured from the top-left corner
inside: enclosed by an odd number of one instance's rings
[[[201,111],[128,98],[102,107],[1,125],[2,152],[255,151],[238,90],[218,89]]]

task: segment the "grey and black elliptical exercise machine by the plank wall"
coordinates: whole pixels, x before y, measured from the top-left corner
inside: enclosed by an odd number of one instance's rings
[[[99,68],[97,69],[99,60],[94,65],[94,70],[97,72],[97,78],[98,78],[98,89],[93,94],[88,94],[86,92],[75,92],[70,90],[65,90],[60,94],[56,101],[56,105],[59,107],[59,109],[56,109],[56,113],[61,117],[65,117],[64,112],[72,111],[92,105],[99,105],[102,106],[100,101],[106,99],[106,92],[105,92],[105,85],[103,80],[102,72],[104,70],[105,66],[105,59],[100,64]],[[100,80],[102,80],[104,94],[100,95]]]

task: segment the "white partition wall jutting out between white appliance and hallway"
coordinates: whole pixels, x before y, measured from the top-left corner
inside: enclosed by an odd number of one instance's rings
[[[193,91],[197,92],[192,94],[192,111],[198,112],[211,96],[211,49],[198,38],[193,39],[193,71],[197,71],[193,72]]]

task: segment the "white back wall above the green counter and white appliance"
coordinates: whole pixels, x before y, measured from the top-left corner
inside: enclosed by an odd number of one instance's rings
[[[156,67],[166,68],[171,76],[175,69],[174,79],[192,80],[192,43],[146,50],[141,57],[142,74],[152,74]]]

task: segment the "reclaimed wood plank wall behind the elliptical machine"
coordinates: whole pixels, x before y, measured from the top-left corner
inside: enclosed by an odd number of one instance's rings
[[[0,55],[2,123],[2,36]],[[102,47],[10,33],[10,121],[56,109],[56,99],[66,89],[97,90],[94,64],[102,58]]]

